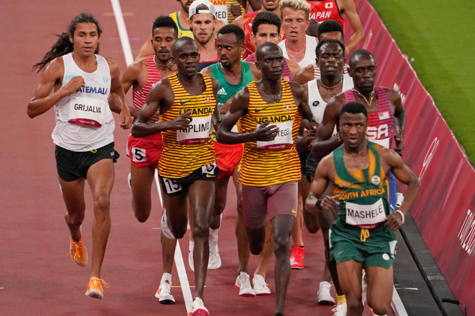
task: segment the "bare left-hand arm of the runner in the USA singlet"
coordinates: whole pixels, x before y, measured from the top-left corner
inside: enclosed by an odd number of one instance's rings
[[[312,147],[312,156],[316,160],[319,160],[341,144],[336,137],[332,138],[332,133],[336,122],[338,121],[338,115],[341,108],[345,104],[345,96],[343,93],[335,95],[327,104],[323,113],[322,122],[319,124],[315,133],[315,141]],[[338,129],[338,127],[337,127]]]

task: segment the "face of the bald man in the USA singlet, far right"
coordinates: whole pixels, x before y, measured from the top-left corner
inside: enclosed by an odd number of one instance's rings
[[[361,93],[371,93],[375,85],[376,63],[368,55],[359,55],[350,61],[350,76],[353,78],[353,85]]]

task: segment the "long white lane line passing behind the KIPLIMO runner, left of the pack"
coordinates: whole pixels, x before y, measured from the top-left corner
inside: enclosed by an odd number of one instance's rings
[[[122,50],[124,51],[125,62],[130,65],[134,58],[132,57],[132,48],[130,47],[129,37],[127,35],[127,29],[125,27],[124,18],[122,16],[122,9],[120,8],[119,0],[110,0],[112,9],[114,10],[115,21],[117,23],[117,29],[119,30],[120,41],[122,43]],[[160,207],[163,205],[162,195],[160,192],[160,184],[158,180],[158,172],[155,170],[155,184],[157,186],[158,197],[160,199]],[[191,312],[191,302],[193,298],[191,296],[190,282],[188,281],[187,272],[185,270],[185,263],[183,262],[183,256],[180,249],[180,243],[177,240],[177,246],[175,248],[175,266],[177,267],[178,278],[180,279],[180,285],[182,287],[183,299],[187,308],[187,316]]]

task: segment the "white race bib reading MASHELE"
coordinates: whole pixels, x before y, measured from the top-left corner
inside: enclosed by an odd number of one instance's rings
[[[348,225],[374,229],[386,218],[382,198],[371,205],[360,205],[351,202],[345,202],[345,205],[346,224]]]

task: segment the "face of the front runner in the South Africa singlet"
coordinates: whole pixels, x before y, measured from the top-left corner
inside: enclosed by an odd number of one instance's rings
[[[339,127],[341,140],[349,148],[358,148],[366,139],[368,119],[363,113],[343,113],[340,117]]]

